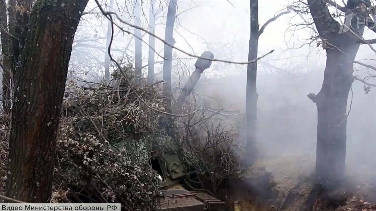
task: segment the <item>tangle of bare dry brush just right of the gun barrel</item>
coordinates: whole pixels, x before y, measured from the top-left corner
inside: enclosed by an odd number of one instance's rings
[[[189,113],[197,109],[194,103],[185,106]],[[233,119],[221,121],[222,109],[200,106],[199,112],[178,118],[174,125],[179,133],[174,134],[173,149],[177,151],[186,167],[196,172],[195,177],[186,178],[186,184],[198,191],[206,191],[216,197],[229,185],[230,178],[240,176],[238,160],[240,151],[239,131]]]

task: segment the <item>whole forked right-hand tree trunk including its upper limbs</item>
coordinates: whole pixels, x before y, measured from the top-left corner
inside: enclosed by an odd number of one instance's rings
[[[340,24],[327,10],[324,1],[308,0],[309,9],[326,50],[324,81],[317,95],[308,97],[317,105],[316,174],[325,191],[338,186],[343,178],[346,161],[347,98],[353,82],[353,60],[359,49],[357,36],[362,36],[364,24],[356,12],[352,31],[338,33]],[[345,20],[346,23],[346,20]],[[354,33],[357,36],[354,36]]]

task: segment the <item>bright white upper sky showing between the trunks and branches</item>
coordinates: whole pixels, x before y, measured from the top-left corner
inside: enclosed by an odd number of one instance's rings
[[[259,24],[262,26],[268,19],[274,17],[281,11],[285,11],[287,6],[291,5],[294,0],[259,0]],[[103,3],[109,0],[103,0]],[[127,7],[117,5],[124,5],[123,0],[115,0],[113,11],[122,14],[124,20],[132,23],[132,18],[129,13],[132,13],[132,7],[127,1]],[[159,1],[155,1],[158,3]],[[165,16],[167,12],[168,0],[162,0],[162,12],[157,16]],[[337,3],[342,4],[342,0],[336,0]],[[91,1],[89,8],[95,6],[95,2]],[[237,62],[247,61],[248,42],[250,36],[250,1],[249,0],[178,0],[179,14],[175,23],[174,38],[176,40],[175,46],[185,50],[189,53],[200,55],[205,50],[211,50],[216,59],[229,59]],[[149,19],[150,0],[142,1],[141,22],[143,27],[147,29]],[[335,12],[335,11],[331,11]],[[180,14],[181,13],[181,14]],[[305,15],[309,20],[309,15]],[[259,39],[259,56],[267,53],[270,50],[275,50],[273,54],[269,55],[265,60],[270,59],[284,59],[289,58],[288,61],[283,60],[278,64],[280,67],[288,66],[293,63],[311,64],[324,62],[324,51],[317,48],[317,42],[313,42],[311,46],[301,45],[306,42],[312,35],[315,35],[312,30],[300,29],[294,30],[294,24],[302,23],[302,18],[295,12],[283,15],[276,21],[269,24],[264,33]],[[158,18],[156,20],[156,35],[164,38],[164,24],[165,18]],[[105,36],[107,23],[97,25],[96,30]],[[125,27],[127,28],[127,27]],[[133,29],[129,29],[133,31]],[[87,32],[86,32],[87,33]],[[124,45],[132,35],[123,35],[116,38],[119,43],[114,45]],[[373,38],[374,33],[370,30],[365,31],[365,38]],[[148,41],[148,36],[144,36],[144,41]],[[210,42],[211,45],[205,44]],[[156,41],[156,51],[163,53],[164,44]],[[148,47],[143,43],[143,55],[145,62],[147,60]],[[369,47],[364,46],[359,50],[358,58],[370,57],[372,51]],[[178,57],[187,57],[183,53],[174,50]],[[308,57],[309,56],[309,57]],[[371,54],[374,56],[374,53]],[[161,60],[161,58],[156,57]],[[235,66],[236,69],[244,69],[246,65]],[[208,70],[210,71],[210,70]]]

